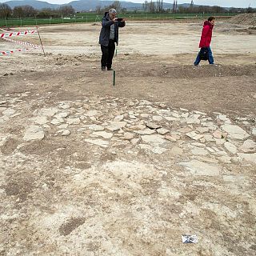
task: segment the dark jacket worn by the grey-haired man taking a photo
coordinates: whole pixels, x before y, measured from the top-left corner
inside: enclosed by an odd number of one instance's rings
[[[110,42],[110,26],[114,24],[114,42],[118,45],[118,28],[126,26],[126,22],[114,22],[110,19],[110,14],[105,13],[102,18],[102,30],[99,34],[99,42],[102,46],[108,46]]]

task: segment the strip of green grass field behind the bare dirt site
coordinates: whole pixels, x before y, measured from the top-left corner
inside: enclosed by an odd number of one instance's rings
[[[119,17],[125,17],[126,20],[154,21],[154,20],[171,20],[171,19],[189,19],[189,18],[206,18],[211,15],[229,18],[235,14],[145,14],[145,13],[128,13],[119,14]],[[70,18],[0,18],[0,26],[33,26],[42,24],[74,23],[74,22],[100,22],[102,15],[95,13],[75,14]]]

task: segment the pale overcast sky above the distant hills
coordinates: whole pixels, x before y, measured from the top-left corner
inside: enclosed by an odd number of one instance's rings
[[[8,0],[0,0],[0,2],[7,2]],[[63,4],[71,2],[72,0],[41,0],[44,2]],[[123,1],[123,0],[122,0]],[[148,0],[150,1],[150,0]],[[155,1],[155,0],[153,0]],[[130,0],[126,2],[145,2],[144,0]],[[173,0],[164,0],[164,2],[173,3]],[[190,0],[178,0],[178,4],[191,2]],[[224,6],[224,7],[243,7],[246,8],[249,5],[256,8],[256,0],[194,0],[196,5],[206,5],[206,6]]]

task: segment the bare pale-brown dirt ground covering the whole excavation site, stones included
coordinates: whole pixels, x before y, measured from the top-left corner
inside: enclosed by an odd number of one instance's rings
[[[100,28],[0,56],[0,255],[255,255],[255,30],[128,21],[112,86]]]

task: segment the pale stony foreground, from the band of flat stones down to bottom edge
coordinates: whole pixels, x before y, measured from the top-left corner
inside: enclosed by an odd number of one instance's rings
[[[253,118],[160,102],[0,95],[0,252],[249,255],[255,135]]]

